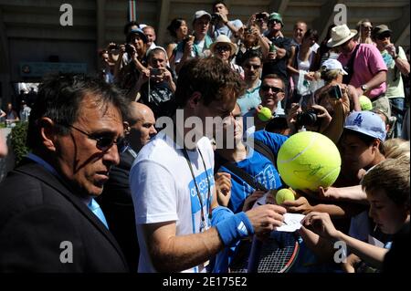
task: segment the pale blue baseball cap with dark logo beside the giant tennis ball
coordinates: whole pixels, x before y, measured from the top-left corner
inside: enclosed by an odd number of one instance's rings
[[[344,129],[353,130],[381,141],[385,140],[385,123],[371,111],[354,111],[346,119]]]

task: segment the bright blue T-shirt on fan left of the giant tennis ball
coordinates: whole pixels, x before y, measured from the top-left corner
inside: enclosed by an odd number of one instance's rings
[[[279,148],[288,139],[287,136],[265,130],[256,131],[253,137],[255,140],[260,140],[269,146],[269,149],[271,149],[276,157]],[[277,171],[272,162],[269,161],[264,154],[258,151],[250,149],[248,158],[236,162],[236,165],[240,169],[247,171],[255,181],[264,185],[269,190],[279,189],[282,186],[279,171]],[[226,171],[231,174],[231,198],[228,203],[228,208],[234,213],[241,212],[244,201],[255,189],[224,166],[221,166],[218,171]]]

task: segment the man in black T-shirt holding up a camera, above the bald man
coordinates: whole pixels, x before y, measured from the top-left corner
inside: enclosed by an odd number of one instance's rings
[[[155,119],[174,114],[174,76],[167,67],[167,53],[163,47],[148,52],[148,74],[143,73],[129,97],[153,110]]]

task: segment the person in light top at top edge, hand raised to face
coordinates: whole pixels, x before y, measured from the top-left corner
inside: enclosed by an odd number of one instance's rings
[[[228,36],[233,42],[237,38],[238,30],[243,26],[241,20],[236,19],[228,20],[228,8],[224,1],[216,1],[213,4],[213,15],[211,16],[211,32],[212,38],[216,39],[217,36]]]

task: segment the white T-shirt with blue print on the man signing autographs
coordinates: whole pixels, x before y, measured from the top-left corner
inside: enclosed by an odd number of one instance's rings
[[[208,209],[215,185],[214,152],[207,138],[197,142],[197,149],[187,152],[202,196],[205,226],[208,228],[211,224],[208,221]],[[206,173],[198,151],[201,151],[204,157]],[[200,201],[192,173],[183,151],[175,149],[174,141],[164,133],[164,130],[139,152],[130,171],[130,185],[140,245],[138,271],[157,272],[143,239],[142,224],[175,222],[175,235],[178,236],[198,234],[201,223]],[[184,272],[205,272],[205,268],[204,265],[198,265]]]

